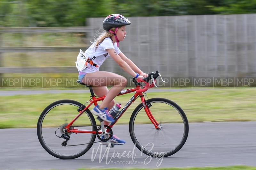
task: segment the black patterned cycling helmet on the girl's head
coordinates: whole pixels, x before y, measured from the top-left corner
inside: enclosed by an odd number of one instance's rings
[[[111,14],[107,16],[103,21],[103,29],[109,31],[112,27],[121,27],[130,25],[131,22],[120,14]]]

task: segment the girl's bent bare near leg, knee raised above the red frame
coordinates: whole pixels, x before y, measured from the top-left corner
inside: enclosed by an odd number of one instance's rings
[[[117,94],[124,89],[127,85],[127,80],[123,76],[107,71],[96,71],[94,73],[87,73],[83,78],[83,83],[86,85],[94,86],[93,90],[97,91],[97,88],[101,86],[112,85],[108,91],[105,99],[99,106],[100,109],[108,107],[108,104],[117,96]]]

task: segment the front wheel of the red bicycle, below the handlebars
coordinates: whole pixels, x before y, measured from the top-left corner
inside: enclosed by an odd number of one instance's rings
[[[188,119],[184,111],[164,98],[152,98],[147,102],[159,128],[149,120],[141,103],[133,111],[129,123],[133,143],[152,157],[167,157],[178,152],[188,137]]]

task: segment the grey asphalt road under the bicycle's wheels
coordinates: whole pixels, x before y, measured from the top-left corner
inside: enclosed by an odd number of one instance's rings
[[[134,145],[128,125],[114,126],[114,133],[127,143],[111,148],[108,156],[102,154],[100,158],[100,151],[95,154],[99,147],[96,143],[83,156],[72,160],[57,159],[44,151],[37,139],[36,129],[0,129],[0,169],[157,168],[159,164],[159,167],[256,166],[255,129],[256,122],[189,123],[185,145],[179,152],[164,158],[161,164],[160,159],[150,160],[137,148],[133,158],[111,157],[113,153],[122,155],[126,152],[124,155],[127,155],[127,152],[132,152]],[[93,148],[96,150],[92,155]],[[102,152],[105,150],[106,147],[103,147]]]

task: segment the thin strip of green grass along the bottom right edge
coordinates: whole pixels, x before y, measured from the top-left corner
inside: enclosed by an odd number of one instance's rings
[[[105,170],[150,170],[149,168],[111,168]],[[223,167],[192,167],[192,168],[159,168],[157,170],[256,170],[253,166],[223,166]],[[78,169],[78,170],[98,170],[98,169]]]

